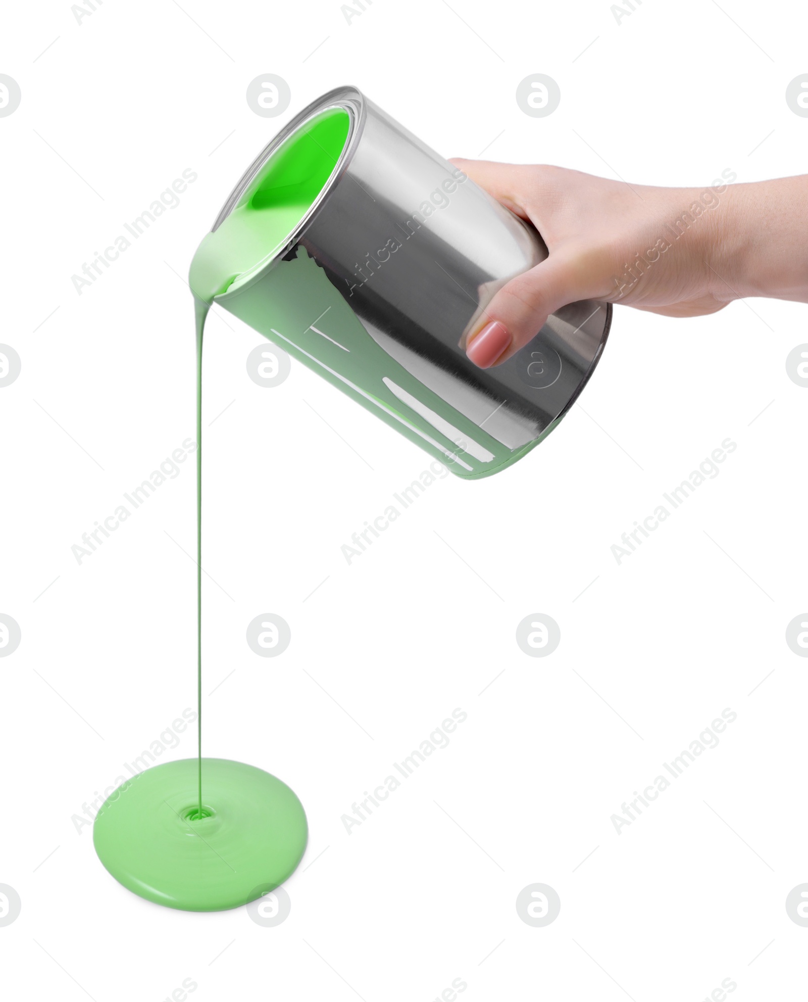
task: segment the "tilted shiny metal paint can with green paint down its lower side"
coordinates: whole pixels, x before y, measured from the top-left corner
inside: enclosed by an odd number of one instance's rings
[[[321,190],[272,254],[213,302],[457,475],[496,473],[541,442],[577,399],[612,307],[566,306],[508,362],[475,366],[468,335],[497,291],[544,261],[547,247],[355,87],[324,94],[280,130],[213,231],[253,196],[273,157],[331,109],[349,123]]]

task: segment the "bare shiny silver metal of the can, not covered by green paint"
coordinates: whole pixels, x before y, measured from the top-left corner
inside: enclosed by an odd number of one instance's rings
[[[533,226],[355,88],[332,90],[292,119],[245,172],[213,228],[274,149],[330,107],[350,115],[345,148],[279,257],[304,246],[370,337],[413,376],[507,448],[535,441],[589,379],[611,305],[571,304],[505,364],[475,366],[468,334],[495,293],[544,261],[547,248]]]

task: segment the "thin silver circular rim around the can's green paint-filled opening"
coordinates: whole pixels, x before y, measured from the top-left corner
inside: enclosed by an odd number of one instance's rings
[[[361,137],[364,122],[366,118],[365,113],[366,98],[361,93],[357,87],[346,85],[343,87],[335,87],[333,90],[329,90],[327,93],[322,94],[315,100],[307,104],[302,111],[298,112],[293,118],[291,118],[283,128],[280,129],[263,147],[263,149],[258,153],[255,159],[250,163],[241,177],[238,179],[237,183],[233,187],[227,196],[224,204],[219,210],[218,215],[213,222],[211,227],[211,232],[215,232],[216,229],[221,225],[224,219],[230,214],[233,208],[238,203],[238,199],[247,189],[249,184],[254,180],[258,171],[263,167],[269,157],[277,150],[277,148],[286,141],[291,135],[297,132],[307,121],[321,114],[323,111],[327,111],[330,108],[339,108],[342,111],[347,112],[348,115],[348,133],[345,138],[344,145],[342,146],[342,151],[334,164],[333,170],[326,182],[320,188],[319,193],[316,198],[311,202],[302,218],[297,222],[294,228],[289,232],[288,236],[282,244],[275,247],[270,255],[263,258],[258,262],[253,268],[243,275],[239,276],[238,279],[233,282],[233,284],[227,289],[226,292],[222,293],[220,296],[214,297],[214,302],[224,302],[233,296],[237,296],[239,293],[244,292],[244,290],[249,289],[254,283],[261,279],[266,272],[272,268],[278,259],[283,258],[285,255],[291,250],[291,248],[297,243],[300,238],[300,233],[306,228],[306,226],[311,222],[311,220],[319,214],[322,210],[323,204],[327,199],[330,192],[339,182],[340,178],[347,169],[348,164],[353,158],[356,146],[358,145],[359,139]]]

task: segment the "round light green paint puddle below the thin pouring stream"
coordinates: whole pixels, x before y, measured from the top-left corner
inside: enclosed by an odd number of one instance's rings
[[[119,787],[93,828],[98,857],[125,888],[168,908],[236,908],[282,884],[305,851],[294,793],[268,773],[205,759],[202,818],[197,763],[154,766]]]

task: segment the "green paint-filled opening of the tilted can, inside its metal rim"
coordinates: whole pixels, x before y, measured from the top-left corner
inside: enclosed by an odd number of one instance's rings
[[[232,210],[199,244],[188,279],[194,296],[212,302],[287,244],[335,171],[349,131],[348,112],[330,107],[270,152]]]

